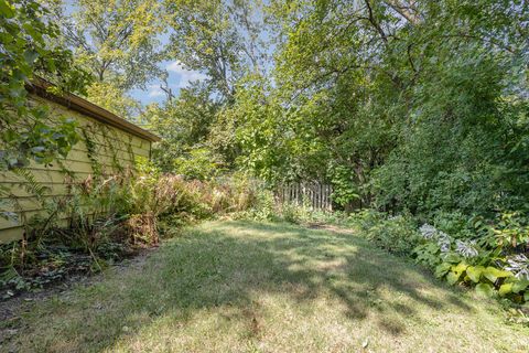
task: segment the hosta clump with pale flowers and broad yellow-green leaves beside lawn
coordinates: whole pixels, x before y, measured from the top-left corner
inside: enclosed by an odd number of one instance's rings
[[[415,259],[450,285],[472,286],[486,297],[529,301],[529,259],[523,254],[508,255],[520,245],[527,246],[526,227],[511,222],[511,216],[500,218],[499,229],[489,226],[488,236],[474,240],[455,239],[423,224],[423,244],[415,247]]]

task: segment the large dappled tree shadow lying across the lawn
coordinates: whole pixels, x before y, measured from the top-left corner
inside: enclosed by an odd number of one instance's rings
[[[424,320],[418,307],[472,310],[452,290],[358,236],[240,221],[193,228],[166,242],[142,268],[45,309],[67,322],[42,334],[61,335],[69,351],[99,351],[161,315],[185,325],[196,311],[220,306],[235,308],[251,334],[259,293],[288,296],[309,310],[314,299],[330,296],[343,303],[344,320],[377,313],[379,329],[391,335],[404,331],[396,318]]]

